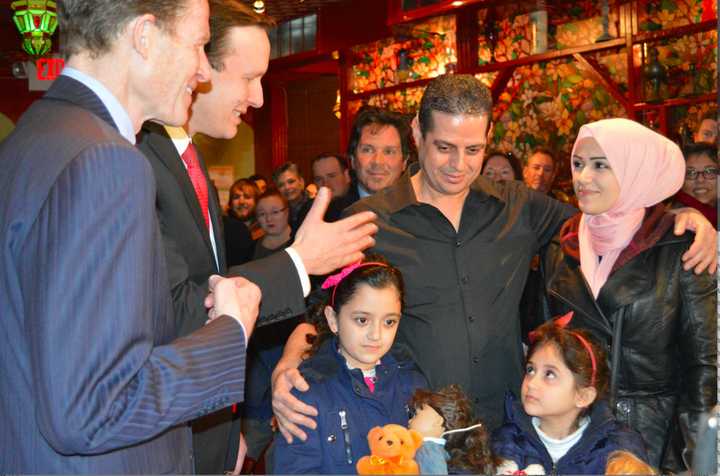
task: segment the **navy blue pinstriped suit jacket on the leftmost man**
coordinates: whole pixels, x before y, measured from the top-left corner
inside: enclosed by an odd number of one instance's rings
[[[0,472],[186,473],[245,338],[176,335],[145,157],[60,77],[0,144]]]

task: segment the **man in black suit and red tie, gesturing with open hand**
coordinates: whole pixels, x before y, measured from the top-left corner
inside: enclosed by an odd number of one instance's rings
[[[138,147],[147,156],[157,184],[156,209],[168,261],[168,277],[178,332],[184,336],[201,328],[207,320],[203,300],[208,278],[227,272],[222,233],[222,213],[204,161],[194,151],[191,137],[198,132],[229,139],[235,136],[240,114],[263,103],[260,79],[267,70],[272,23],[239,0],[210,1],[211,40],[205,45],[210,62],[210,81],[198,86],[188,123],[184,127],[143,125]],[[196,190],[188,153],[194,152],[202,183]],[[203,190],[204,189],[204,190]],[[328,230],[314,253],[331,253],[344,224]],[[306,228],[317,228],[308,224]],[[306,261],[303,247],[293,246],[259,262],[230,270],[260,286],[262,323],[304,312],[303,293],[293,258]],[[310,264],[310,273],[317,272]],[[303,272],[304,274],[304,272]],[[231,435],[232,413],[222,409],[193,423],[195,470],[222,473],[237,461],[237,436]],[[236,427],[236,428],[239,428]],[[229,444],[229,442],[233,442]],[[239,468],[235,468],[239,469]]]

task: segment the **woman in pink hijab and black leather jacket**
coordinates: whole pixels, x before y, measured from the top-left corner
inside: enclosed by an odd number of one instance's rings
[[[662,201],[683,184],[669,139],[627,119],[580,128],[571,157],[581,213],[543,259],[549,316],[608,350],[610,404],[638,430],[650,463],[679,472],[701,414],[717,401],[716,281],[684,271],[690,234]],[[683,459],[686,458],[686,459]]]

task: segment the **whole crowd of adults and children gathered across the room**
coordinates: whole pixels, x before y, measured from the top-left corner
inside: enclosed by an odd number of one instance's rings
[[[448,74],[411,123],[361,109],[317,191],[289,162],[223,206],[192,137],[262,106],[272,22],[58,17],[67,66],[0,143],[2,472],[354,474],[390,424],[422,474],[688,469],[717,403],[711,117],[682,149],[588,123],[521,165]]]

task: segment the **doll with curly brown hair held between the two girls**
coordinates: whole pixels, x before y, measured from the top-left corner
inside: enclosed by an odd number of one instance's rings
[[[415,454],[421,474],[495,474],[488,433],[473,418],[472,404],[459,386],[418,389],[409,408],[410,429],[423,435]]]

